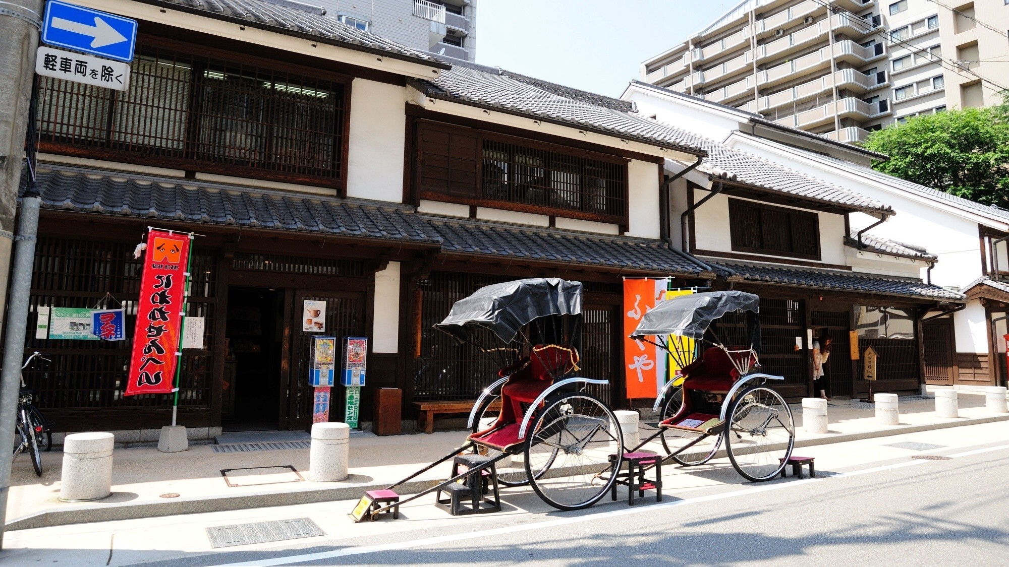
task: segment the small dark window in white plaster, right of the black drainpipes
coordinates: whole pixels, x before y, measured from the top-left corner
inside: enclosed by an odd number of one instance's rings
[[[733,251],[820,259],[816,213],[730,199],[728,227]]]

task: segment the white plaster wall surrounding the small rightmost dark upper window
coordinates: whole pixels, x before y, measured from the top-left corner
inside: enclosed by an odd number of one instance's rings
[[[694,203],[697,203],[708,195],[706,191],[694,191]],[[733,241],[728,231],[728,197],[725,195],[715,195],[710,201],[701,205],[694,211],[694,243],[695,249],[712,250],[715,252],[732,252]],[[733,199],[739,199],[733,197]],[[754,201],[743,199],[743,201]],[[781,207],[777,203],[776,207]],[[783,207],[806,211],[808,209],[797,209],[795,207]],[[674,211],[677,220],[683,210]],[[820,230],[820,262],[847,265],[845,252],[845,217],[833,213],[817,212],[819,216]],[[775,256],[761,254],[769,260]],[[787,256],[782,256],[787,257]]]

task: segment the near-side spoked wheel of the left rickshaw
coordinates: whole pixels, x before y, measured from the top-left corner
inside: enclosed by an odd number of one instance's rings
[[[624,436],[616,417],[598,399],[570,393],[537,412],[527,432],[526,474],[543,501],[581,509],[598,501],[616,480]]]

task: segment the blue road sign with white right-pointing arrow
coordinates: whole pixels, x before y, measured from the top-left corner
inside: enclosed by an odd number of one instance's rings
[[[136,20],[49,0],[45,3],[42,41],[129,63],[136,44]]]

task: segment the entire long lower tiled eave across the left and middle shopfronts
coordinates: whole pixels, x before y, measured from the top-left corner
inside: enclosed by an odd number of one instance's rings
[[[26,175],[22,178],[24,190]],[[39,164],[45,209],[396,240],[443,252],[489,254],[581,264],[700,274],[703,266],[660,240],[596,236],[552,229],[422,215],[413,207],[202,181]]]

